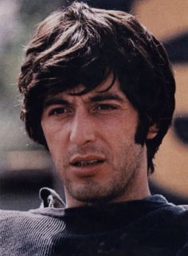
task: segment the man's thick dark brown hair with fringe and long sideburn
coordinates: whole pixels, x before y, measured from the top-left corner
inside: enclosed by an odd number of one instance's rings
[[[110,73],[139,112],[135,142],[147,145],[147,167],[152,172],[152,160],[174,112],[174,76],[163,45],[123,11],[73,2],[37,26],[18,81],[26,131],[47,148],[41,128],[45,97],[79,84],[84,85],[82,93],[88,93]],[[147,140],[152,124],[159,132]]]

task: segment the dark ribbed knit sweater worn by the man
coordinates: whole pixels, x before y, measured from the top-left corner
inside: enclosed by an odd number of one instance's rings
[[[162,195],[75,208],[55,196],[44,207],[50,196],[36,210],[0,211],[1,256],[188,255],[188,207]]]

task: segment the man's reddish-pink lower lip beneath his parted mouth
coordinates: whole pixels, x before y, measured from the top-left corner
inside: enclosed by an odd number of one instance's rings
[[[104,162],[95,163],[87,166],[71,166],[71,171],[79,177],[91,177],[92,175],[96,175],[96,173],[100,171],[100,168],[103,164]]]

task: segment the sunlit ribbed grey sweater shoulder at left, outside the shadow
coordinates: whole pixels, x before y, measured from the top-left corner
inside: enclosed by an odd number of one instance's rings
[[[0,254],[39,255],[38,251],[53,246],[51,238],[65,227],[64,221],[53,214],[55,210],[0,211]]]

